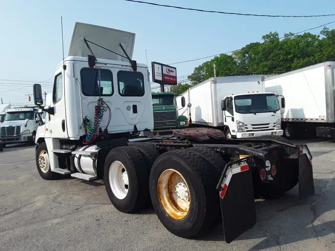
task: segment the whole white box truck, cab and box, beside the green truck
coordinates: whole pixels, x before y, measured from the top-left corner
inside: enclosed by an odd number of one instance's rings
[[[179,96],[177,105],[182,108],[184,96],[189,101],[190,125],[220,128],[228,138],[281,136],[280,113],[285,100],[280,97],[279,102],[277,95],[265,92],[265,77],[210,78]]]

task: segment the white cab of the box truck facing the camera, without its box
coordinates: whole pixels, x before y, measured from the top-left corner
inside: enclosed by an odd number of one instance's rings
[[[283,134],[281,108],[274,93],[243,93],[224,97],[222,120],[228,138],[248,138]]]

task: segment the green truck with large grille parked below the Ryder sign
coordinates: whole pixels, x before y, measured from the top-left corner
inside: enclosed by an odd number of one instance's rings
[[[170,134],[171,129],[188,127],[188,118],[186,116],[179,115],[178,113],[175,93],[153,92],[151,96],[154,131],[158,132],[160,135],[164,135]],[[182,107],[185,107],[184,97],[182,97]],[[169,131],[170,133],[167,133]]]

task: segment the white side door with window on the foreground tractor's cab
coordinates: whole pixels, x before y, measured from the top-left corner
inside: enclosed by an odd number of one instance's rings
[[[51,106],[54,107],[55,114],[50,115],[49,125],[47,126],[49,133],[53,138],[67,138],[64,79],[64,70],[61,68],[59,71],[56,71],[54,78]]]

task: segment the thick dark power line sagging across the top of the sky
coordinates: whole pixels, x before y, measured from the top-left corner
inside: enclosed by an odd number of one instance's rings
[[[227,14],[227,15],[240,15],[240,16],[263,16],[263,17],[321,17],[321,16],[335,16],[335,14],[302,15],[302,16],[300,16],[300,15],[246,14],[246,13],[238,13],[238,12],[224,12],[224,11],[217,11],[217,10],[204,10],[204,9],[186,8],[186,7],[173,6],[173,5],[167,5],[167,4],[159,4],[159,3],[154,3],[154,2],[138,1],[138,0],[125,0],[125,1],[150,4],[150,5],[160,6],[160,7],[185,9],[185,10],[194,10],[194,11],[209,12],[209,13]]]

